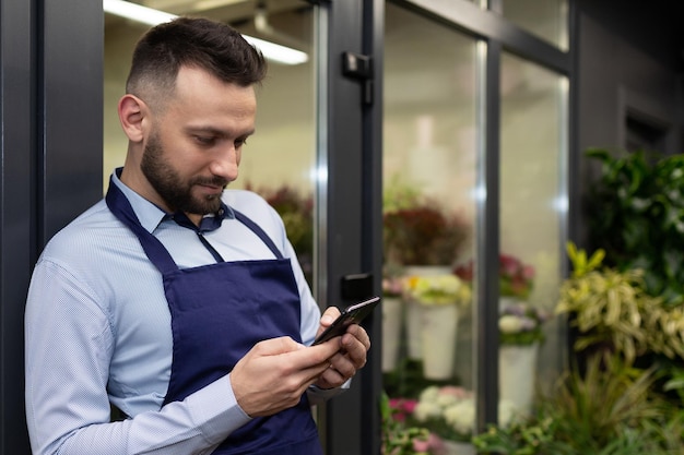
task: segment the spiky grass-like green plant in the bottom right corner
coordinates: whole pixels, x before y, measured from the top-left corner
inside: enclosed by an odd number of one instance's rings
[[[567,372],[536,414],[473,438],[480,453],[503,455],[681,454],[682,412],[653,393],[656,369],[618,357],[590,358]]]

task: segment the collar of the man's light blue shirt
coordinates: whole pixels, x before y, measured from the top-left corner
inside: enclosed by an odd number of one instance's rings
[[[121,192],[123,192],[123,195],[128,199],[135,216],[140,220],[140,225],[148,230],[148,232],[153,232],[161,223],[174,218],[174,214],[166,213],[156,204],[153,204],[127,187],[126,183],[119,179],[121,169],[122,168],[118,168],[114,171],[111,181],[119,188],[119,190],[121,190]],[[221,226],[221,221],[226,218],[235,218],[235,213],[222,201],[221,208],[217,213],[204,215],[204,219],[200,223],[200,230],[210,231],[217,229]]]

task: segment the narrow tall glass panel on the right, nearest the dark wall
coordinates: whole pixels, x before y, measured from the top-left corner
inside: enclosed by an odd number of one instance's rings
[[[553,313],[565,258],[567,82],[505,53],[500,84],[499,392],[502,403],[529,411],[535,386],[556,378],[565,354],[564,328],[556,320],[534,328],[538,314]],[[541,334],[546,339],[540,349]]]

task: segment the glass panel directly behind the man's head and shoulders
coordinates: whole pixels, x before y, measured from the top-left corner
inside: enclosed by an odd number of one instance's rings
[[[315,166],[314,7],[303,0],[270,2],[268,11],[245,2],[150,0],[145,4],[174,14],[194,14],[233,24],[252,37],[308,55],[308,61],[283,64],[269,60],[269,75],[258,88],[257,134],[245,146],[240,177],[231,188],[250,188],[281,212],[310,283],[312,248],[311,169]],[[201,8],[210,8],[202,10]],[[123,165],[127,139],[117,117],[131,52],[148,25],[105,16],[104,188]],[[264,52],[266,53],[266,52]]]

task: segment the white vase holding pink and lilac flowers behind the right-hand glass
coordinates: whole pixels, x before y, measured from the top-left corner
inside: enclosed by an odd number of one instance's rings
[[[539,343],[499,348],[499,399],[508,400],[516,411],[530,414],[536,378]]]

